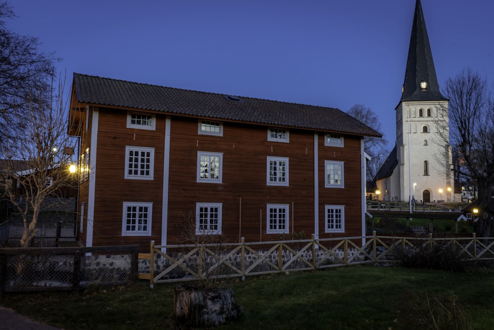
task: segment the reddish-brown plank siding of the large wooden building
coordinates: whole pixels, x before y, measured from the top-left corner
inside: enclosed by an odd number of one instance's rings
[[[92,245],[140,245],[162,241],[162,206],[166,116],[156,114],[156,130],[126,127],[127,111],[99,107],[97,146],[90,145],[91,125],[82,134],[82,148],[97,149]],[[82,116],[85,120],[85,116]],[[89,116],[92,120],[92,114]],[[279,240],[266,234],[267,204],[289,205],[289,232],[314,233],[314,131],[289,129],[289,142],[268,141],[268,126],[223,122],[223,136],[198,134],[198,118],[171,115],[168,170],[167,244],[180,243],[185,215],[195,216],[196,203],[222,203],[223,236],[246,242]],[[319,237],[362,234],[361,136],[344,135],[344,147],[324,145],[318,134]],[[155,148],[153,180],[124,179],[125,146]],[[222,183],[198,183],[198,151],[223,154]],[[287,157],[289,185],[268,186],[267,157]],[[325,188],[325,161],[344,162],[344,189]],[[88,212],[88,182],[80,188],[79,208]],[[123,202],[152,202],[150,236],[122,236]],[[345,232],[325,233],[325,205],[345,206]],[[81,211],[79,209],[79,211]],[[293,219],[293,221],[292,221]],[[78,219],[79,220],[79,219]],[[91,229],[89,229],[91,230]],[[80,235],[84,242],[87,219]]]

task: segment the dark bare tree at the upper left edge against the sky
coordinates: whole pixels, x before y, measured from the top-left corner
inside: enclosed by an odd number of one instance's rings
[[[9,31],[5,20],[12,18],[12,7],[0,1],[0,144],[12,143],[24,129],[33,92],[49,84],[46,77],[54,77],[54,62],[59,60],[40,52],[37,38]]]

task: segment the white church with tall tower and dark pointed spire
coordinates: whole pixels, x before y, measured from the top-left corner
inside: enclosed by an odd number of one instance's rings
[[[381,199],[451,202],[448,99],[440,90],[420,0],[416,1],[402,96],[396,107],[396,145],[375,178]]]

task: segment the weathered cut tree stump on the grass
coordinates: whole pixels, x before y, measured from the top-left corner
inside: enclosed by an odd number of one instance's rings
[[[175,287],[173,319],[188,327],[218,326],[237,319],[242,307],[235,302],[235,292],[224,288]]]

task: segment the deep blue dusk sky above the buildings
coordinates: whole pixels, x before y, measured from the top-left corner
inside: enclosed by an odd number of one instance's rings
[[[16,0],[7,28],[67,72],[335,107],[359,103],[392,148],[415,0]],[[494,1],[422,0],[439,85],[494,80]]]

